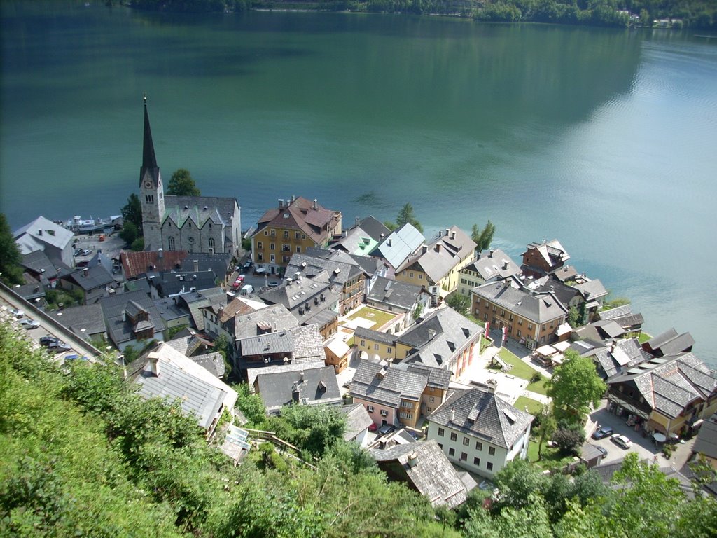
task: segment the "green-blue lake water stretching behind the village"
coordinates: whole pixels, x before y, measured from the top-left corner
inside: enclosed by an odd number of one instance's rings
[[[64,6],[64,7],[63,7]],[[142,95],[167,181],[248,227],[302,195],[345,222],[411,202],[427,232],[490,219],[520,260],[558,238],[652,334],[717,366],[717,39],[369,14],[174,16],[1,4],[0,211],[117,214]]]

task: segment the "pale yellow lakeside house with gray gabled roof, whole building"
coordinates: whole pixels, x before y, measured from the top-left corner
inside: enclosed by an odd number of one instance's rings
[[[460,280],[459,271],[475,259],[475,242],[459,227],[439,232],[427,245],[396,271],[396,280],[420,285],[427,290],[437,286],[437,295],[447,296]]]

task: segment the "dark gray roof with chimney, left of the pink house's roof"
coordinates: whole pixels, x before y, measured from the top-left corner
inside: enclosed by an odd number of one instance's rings
[[[268,410],[291,404],[294,387],[298,389],[301,405],[340,405],[342,402],[333,366],[259,374],[256,384]]]

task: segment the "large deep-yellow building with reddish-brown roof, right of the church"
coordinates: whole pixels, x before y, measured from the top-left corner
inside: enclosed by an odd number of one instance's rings
[[[257,222],[252,235],[252,260],[257,269],[280,273],[291,255],[305,253],[309,247],[324,247],[341,235],[341,212],[326,209],[316,199],[279,199],[278,207],[268,209]]]

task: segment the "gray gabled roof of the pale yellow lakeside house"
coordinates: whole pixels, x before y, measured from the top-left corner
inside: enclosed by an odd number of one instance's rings
[[[435,283],[450,273],[466,256],[473,255],[473,250],[475,242],[459,227],[452,226],[439,232],[422,250],[412,255],[402,268],[419,268]]]

